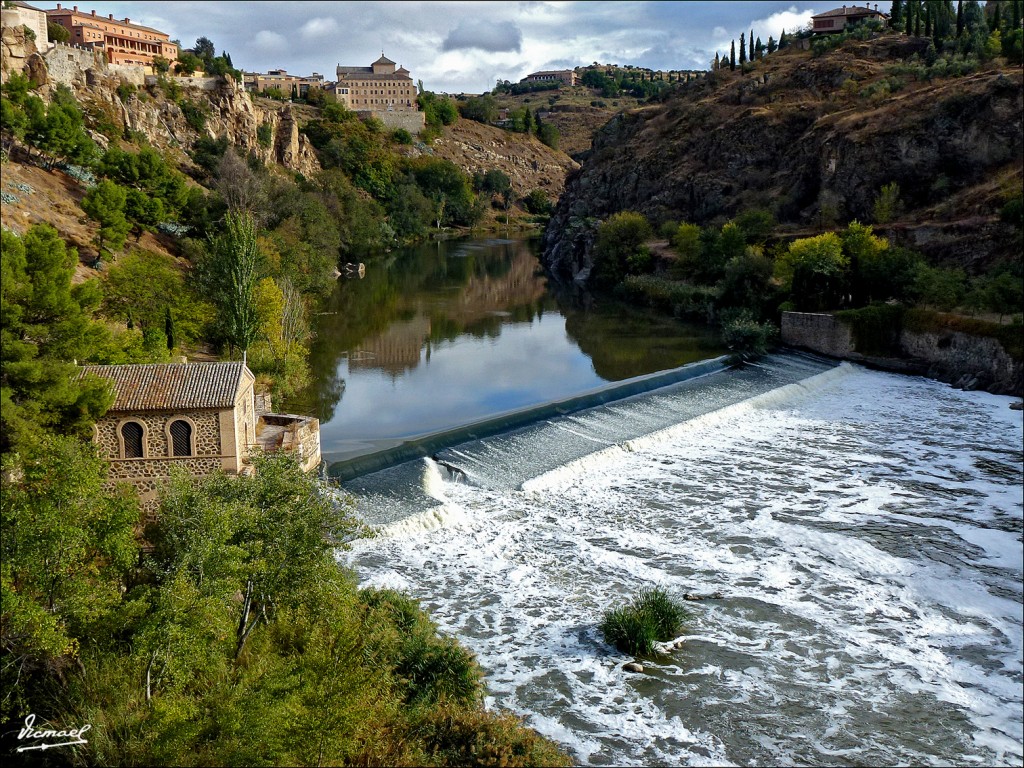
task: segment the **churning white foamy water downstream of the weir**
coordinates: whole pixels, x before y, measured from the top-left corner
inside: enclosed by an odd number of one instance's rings
[[[665,398],[598,426],[654,423]],[[419,598],[477,653],[490,703],[587,764],[1021,765],[1009,402],[845,366],[595,444],[520,489],[427,463],[419,518],[343,560]],[[528,450],[560,455],[585,421]],[[596,625],[650,585],[722,599],[690,604],[682,648],[633,675]]]

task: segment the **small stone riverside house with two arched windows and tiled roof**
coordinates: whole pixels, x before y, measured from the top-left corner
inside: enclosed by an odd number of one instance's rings
[[[134,484],[150,511],[175,467],[246,474],[257,446],[295,452],[307,471],[319,465],[319,422],[258,413],[255,377],[243,362],[85,366],[82,374],[110,380],[116,395],[93,428],[108,477]]]

